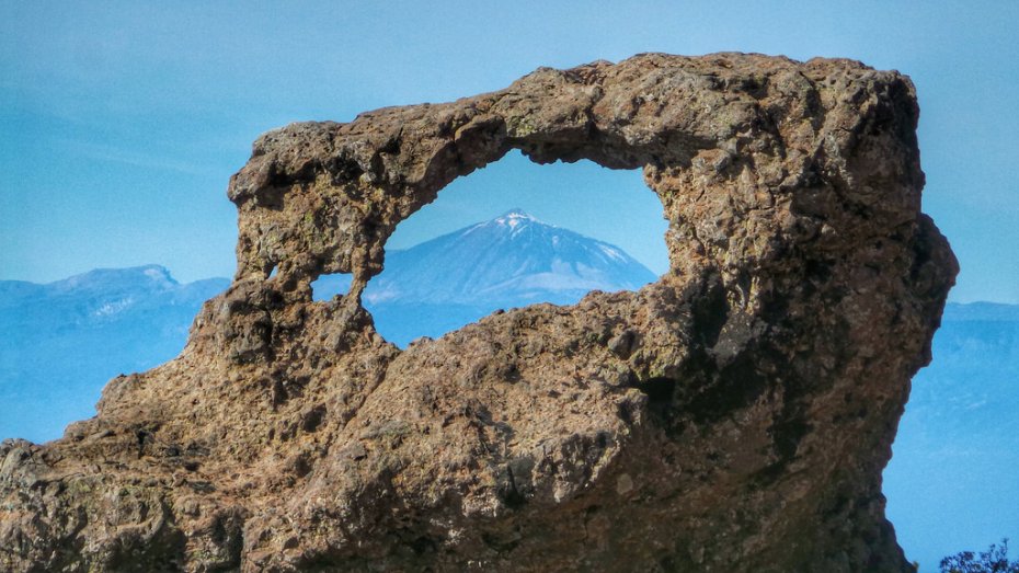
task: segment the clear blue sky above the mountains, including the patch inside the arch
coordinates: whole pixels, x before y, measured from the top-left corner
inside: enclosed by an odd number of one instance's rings
[[[925,209],[963,268],[952,298],[1019,302],[1019,2],[799,4],[0,0],[0,278],[145,263],[229,276],[227,181],[267,129],[496,90],[539,66],[741,50],[911,75]],[[508,158],[457,182],[393,245],[519,206],[663,270],[639,174],[548,169]]]

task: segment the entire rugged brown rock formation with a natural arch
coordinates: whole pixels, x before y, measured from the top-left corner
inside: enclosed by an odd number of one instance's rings
[[[0,447],[0,569],[911,571],[881,470],[957,272],[917,116],[855,61],[649,54],[268,133],[183,354]],[[511,149],[643,168],[671,271],[398,349],[387,238]]]

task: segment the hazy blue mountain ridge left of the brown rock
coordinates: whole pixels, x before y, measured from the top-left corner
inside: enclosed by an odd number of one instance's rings
[[[179,354],[202,303],[228,285],[181,285],[157,265],[0,280],[0,438],[51,439],[90,417],[111,378]]]

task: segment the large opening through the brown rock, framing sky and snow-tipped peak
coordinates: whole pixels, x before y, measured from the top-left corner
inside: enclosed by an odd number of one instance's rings
[[[668,268],[666,228],[640,170],[539,165],[513,151],[401,222],[363,300],[402,347],[499,309],[637,290]]]

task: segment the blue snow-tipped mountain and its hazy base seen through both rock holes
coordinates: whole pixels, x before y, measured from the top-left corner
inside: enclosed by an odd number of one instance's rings
[[[405,346],[500,308],[572,305],[592,290],[637,290],[657,277],[622,249],[541,222],[520,209],[390,251],[365,289],[365,307],[387,340]],[[316,298],[345,293],[350,277],[312,285]]]

